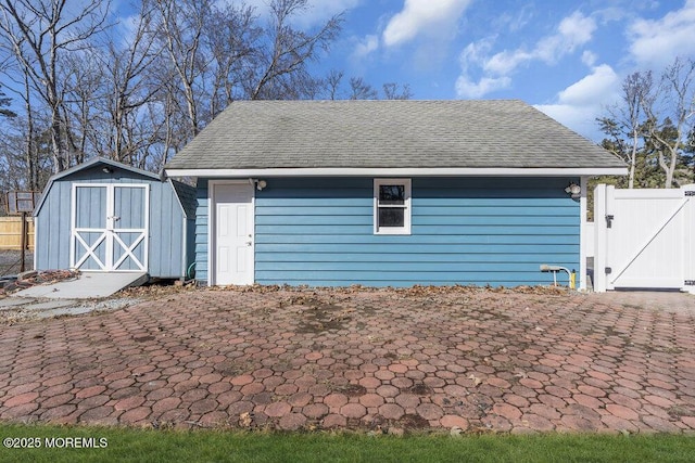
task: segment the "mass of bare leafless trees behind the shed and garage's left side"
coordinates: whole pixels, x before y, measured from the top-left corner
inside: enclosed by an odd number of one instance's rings
[[[159,169],[236,99],[320,98],[326,82],[309,65],[342,16],[300,29],[309,0],[268,3],[262,24],[242,1],[141,0],[118,37],[105,24],[109,0],[0,0],[2,89],[23,105],[15,151],[0,154],[14,153],[13,172],[26,168],[38,188],[46,166],[58,172],[94,155]],[[3,103],[0,93],[0,114]]]

